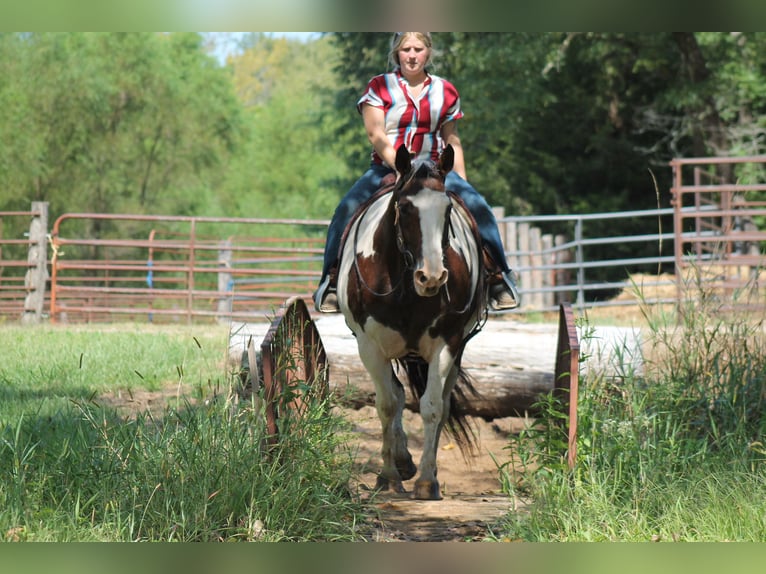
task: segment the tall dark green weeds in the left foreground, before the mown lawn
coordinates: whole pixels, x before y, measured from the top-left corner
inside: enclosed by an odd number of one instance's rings
[[[227,375],[220,375],[210,384],[225,388]],[[125,416],[100,404],[96,393],[81,393],[73,388],[64,407],[60,396],[43,399],[0,427],[0,536],[361,537],[354,522],[361,510],[348,488],[353,460],[342,443],[345,423],[326,400],[312,397],[300,413],[281,412],[280,440],[267,445],[263,396],[240,401],[224,394]]]

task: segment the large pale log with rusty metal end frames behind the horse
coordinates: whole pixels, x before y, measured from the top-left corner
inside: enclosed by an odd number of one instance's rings
[[[263,342],[256,346],[261,337]],[[569,466],[574,467],[579,351],[567,303],[561,304],[559,324],[553,328],[488,321],[463,355],[463,366],[478,392],[468,400],[466,414],[486,420],[535,417],[539,415],[535,403],[553,393],[568,415],[563,431],[568,436]],[[290,360],[285,361],[285,356]],[[228,358],[240,373],[243,393],[252,394],[263,386],[267,427],[274,439],[279,412],[285,407],[301,408],[303,397],[295,388],[313,389],[310,392],[321,396],[332,392],[347,407],[375,404],[372,381],[343,318],[327,316],[315,322],[305,302],[297,297],[285,302],[271,325],[233,323]],[[407,408],[417,411],[417,402],[407,396]]]

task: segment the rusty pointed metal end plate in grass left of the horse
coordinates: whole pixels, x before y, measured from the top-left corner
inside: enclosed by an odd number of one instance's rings
[[[273,444],[286,409],[302,414],[329,394],[329,365],[319,331],[300,297],[285,301],[261,343],[266,428]],[[251,375],[252,376],[252,375]]]

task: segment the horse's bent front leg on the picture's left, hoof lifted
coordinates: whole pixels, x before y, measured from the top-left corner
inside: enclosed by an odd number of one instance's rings
[[[375,408],[383,430],[383,468],[375,488],[406,492],[402,481],[415,476],[417,467],[407,450],[407,435],[402,426],[404,387],[395,379],[391,361],[374,345],[360,341],[359,356],[375,385]]]

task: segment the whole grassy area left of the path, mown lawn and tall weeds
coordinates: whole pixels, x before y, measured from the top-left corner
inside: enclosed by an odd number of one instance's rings
[[[227,392],[227,345],[210,326],[0,331],[0,536],[359,538],[343,421],[313,401],[298,424],[283,414],[281,440],[266,446],[257,401]],[[168,385],[186,398],[160,414],[100,400]]]

